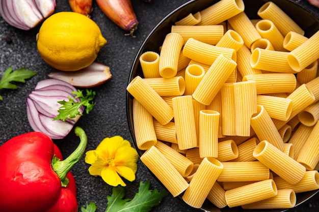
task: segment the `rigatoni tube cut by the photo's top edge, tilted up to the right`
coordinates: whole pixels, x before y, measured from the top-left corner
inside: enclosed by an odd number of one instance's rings
[[[198,25],[214,25],[219,24],[245,9],[242,0],[222,0],[200,11],[202,20]],[[227,11],[227,13],[225,13]]]

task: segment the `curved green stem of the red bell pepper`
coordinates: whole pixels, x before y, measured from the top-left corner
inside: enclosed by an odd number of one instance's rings
[[[87,135],[82,128],[75,127],[74,132],[75,135],[78,136],[80,139],[80,143],[78,144],[74,152],[71,153],[71,155],[69,155],[69,157],[67,157],[63,161],[60,161],[56,157],[54,158],[54,160],[52,160],[52,167],[60,177],[62,184],[66,180],[67,173],[83,156],[88,143]]]

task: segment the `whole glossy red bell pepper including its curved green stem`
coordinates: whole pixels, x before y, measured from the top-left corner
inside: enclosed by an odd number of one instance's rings
[[[87,136],[79,127],[75,134],[81,141],[65,160],[55,156],[53,141],[40,132],[18,135],[0,146],[0,211],[77,210],[76,185],[69,171],[84,154]]]

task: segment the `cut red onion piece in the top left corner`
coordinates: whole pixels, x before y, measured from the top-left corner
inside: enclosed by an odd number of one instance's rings
[[[1,0],[0,14],[10,25],[30,30],[56,8],[56,0]]]

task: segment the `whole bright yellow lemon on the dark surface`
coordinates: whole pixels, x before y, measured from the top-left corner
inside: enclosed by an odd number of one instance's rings
[[[98,25],[85,15],[58,12],[48,17],[37,35],[42,59],[62,71],[76,71],[91,65],[107,44]]]

